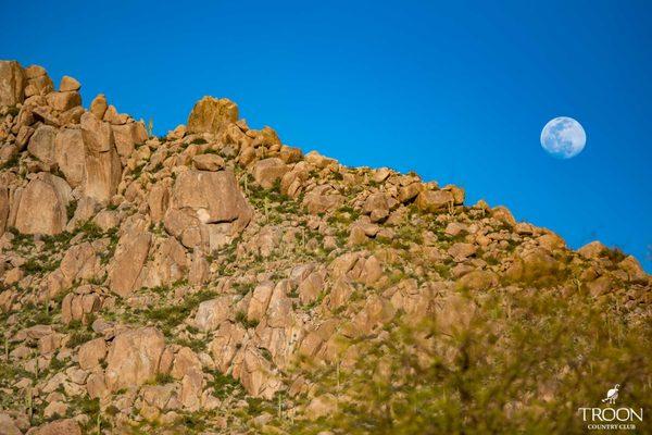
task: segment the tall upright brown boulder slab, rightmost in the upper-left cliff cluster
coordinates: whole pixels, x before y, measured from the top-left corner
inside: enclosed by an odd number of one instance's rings
[[[115,195],[122,176],[111,125],[91,113],[85,113],[82,116],[82,137],[86,165],[84,192],[98,201],[108,201]]]

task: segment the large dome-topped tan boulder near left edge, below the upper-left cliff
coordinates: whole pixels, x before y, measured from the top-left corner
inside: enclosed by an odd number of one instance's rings
[[[65,179],[41,172],[25,187],[20,198],[15,227],[23,234],[60,234],[67,223],[66,207],[71,187]]]

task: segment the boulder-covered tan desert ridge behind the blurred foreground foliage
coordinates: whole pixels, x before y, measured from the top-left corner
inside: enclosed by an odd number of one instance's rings
[[[468,326],[468,294],[581,295],[649,322],[651,277],[600,243],[303,154],[227,99],[154,137],[79,89],[0,61],[0,433],[298,433],[347,402],[339,371],[365,343]]]

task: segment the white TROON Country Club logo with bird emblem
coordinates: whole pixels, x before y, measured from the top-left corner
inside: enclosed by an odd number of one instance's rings
[[[592,408],[579,408],[577,411],[587,423],[587,428],[590,431],[635,431],[637,423],[643,421],[642,408],[618,407],[614,408],[611,405],[616,405],[620,384],[614,385],[606,391],[606,396],[602,399],[604,406]]]

